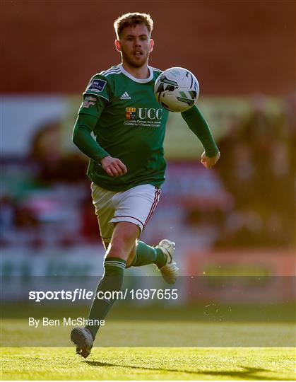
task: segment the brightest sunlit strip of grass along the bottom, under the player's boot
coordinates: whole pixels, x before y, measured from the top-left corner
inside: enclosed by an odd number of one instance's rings
[[[294,348],[1,349],[6,380],[294,380]]]

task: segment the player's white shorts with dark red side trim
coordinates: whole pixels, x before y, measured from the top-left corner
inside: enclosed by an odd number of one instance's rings
[[[143,231],[161,194],[160,189],[153,185],[138,185],[114,192],[92,183],[91,190],[102,241],[106,246],[111,241],[114,223],[130,221]]]

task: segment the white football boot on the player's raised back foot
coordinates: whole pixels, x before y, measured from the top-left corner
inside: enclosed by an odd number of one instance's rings
[[[162,253],[167,257],[167,262],[163,267],[158,268],[160,270],[162,277],[168,284],[174,284],[179,276],[179,268],[177,267],[176,262],[174,262],[174,242],[163,239],[160,241],[156,248],[160,248]]]

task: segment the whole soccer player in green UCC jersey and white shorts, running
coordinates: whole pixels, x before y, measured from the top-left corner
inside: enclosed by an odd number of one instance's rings
[[[168,112],[153,91],[161,71],[148,66],[153,20],[146,13],[127,13],[114,28],[122,63],[90,80],[73,130],[74,144],[90,158],[88,177],[106,248],[105,272],[96,294],[120,291],[127,267],[155,264],[169,284],[179,272],[172,241],[164,239],[154,248],[138,240],[158,204],[166,166]],[[203,144],[203,166],[211,168],[220,154],[206,121],[196,106],[182,117]],[[94,299],[89,320],[103,320],[113,302]],[[86,325],[72,330],[77,354],[88,357],[98,329],[99,325]]]

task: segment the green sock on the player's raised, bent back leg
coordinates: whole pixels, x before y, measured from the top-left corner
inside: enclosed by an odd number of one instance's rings
[[[167,262],[167,257],[160,248],[150,247],[143,241],[138,241],[136,245],[136,256],[131,267],[141,267],[142,265],[156,264],[159,268]]]

